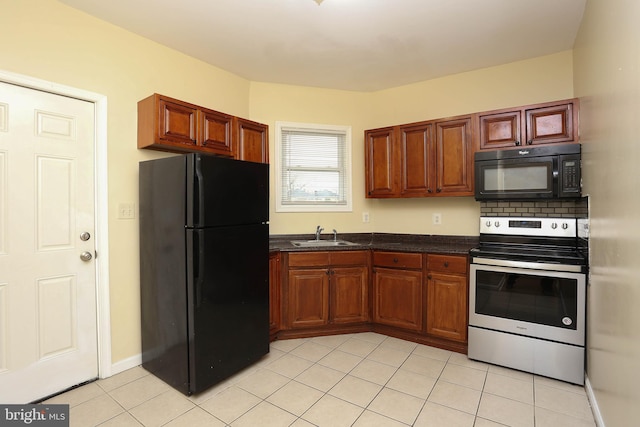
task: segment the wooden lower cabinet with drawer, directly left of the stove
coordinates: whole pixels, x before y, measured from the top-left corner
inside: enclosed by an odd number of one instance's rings
[[[428,255],[427,334],[466,342],[467,258]]]

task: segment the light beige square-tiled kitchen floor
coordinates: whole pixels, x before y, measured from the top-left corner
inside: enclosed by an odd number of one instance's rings
[[[49,399],[71,426],[595,426],[583,387],[376,333],[276,341],[186,397],[136,367]]]

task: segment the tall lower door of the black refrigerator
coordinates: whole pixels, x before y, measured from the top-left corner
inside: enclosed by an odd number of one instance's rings
[[[269,352],[269,226],[186,233],[190,388],[198,393]]]

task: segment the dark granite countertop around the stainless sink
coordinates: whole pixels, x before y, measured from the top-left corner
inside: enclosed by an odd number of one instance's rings
[[[394,252],[423,252],[440,254],[467,255],[469,249],[478,246],[478,236],[440,236],[422,234],[393,233],[344,233],[338,239],[358,243],[354,246],[298,247],[292,240],[313,240],[312,234],[280,234],[269,238],[271,252],[309,252],[309,251],[357,251],[375,249]],[[331,240],[332,235],[324,234],[322,240]]]

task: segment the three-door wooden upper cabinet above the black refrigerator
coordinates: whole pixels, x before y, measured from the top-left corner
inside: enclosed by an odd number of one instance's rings
[[[138,102],[138,148],[268,163],[268,129],[157,93]]]

